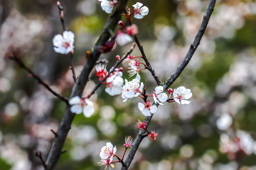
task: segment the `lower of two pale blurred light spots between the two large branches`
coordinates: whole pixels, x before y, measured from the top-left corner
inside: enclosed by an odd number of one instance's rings
[[[116,125],[111,121],[100,119],[97,125],[105,136],[113,136],[117,132]]]

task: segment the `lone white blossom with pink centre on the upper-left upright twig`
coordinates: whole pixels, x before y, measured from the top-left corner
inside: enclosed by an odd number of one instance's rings
[[[57,34],[53,38],[54,51],[67,54],[73,51],[74,34],[71,31],[64,31],[63,35]]]

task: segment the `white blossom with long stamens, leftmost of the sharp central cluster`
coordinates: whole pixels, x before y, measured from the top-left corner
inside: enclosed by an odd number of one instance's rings
[[[122,98],[124,99],[123,102],[126,102],[128,98],[137,97],[139,94],[142,93],[144,84],[141,82],[139,85],[140,76],[137,74],[136,78],[132,81],[125,80],[125,85],[122,88]]]

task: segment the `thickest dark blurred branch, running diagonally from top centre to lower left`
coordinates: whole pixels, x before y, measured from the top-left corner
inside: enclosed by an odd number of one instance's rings
[[[121,13],[124,10],[127,2],[128,0],[118,0],[116,8],[110,15],[109,20],[104,26],[98,41],[95,43],[93,47],[93,50],[91,51],[91,53],[87,52],[87,61],[82,68],[80,76],[78,76],[77,78],[75,86],[73,87],[73,91],[70,95],[71,98],[74,96],[81,97],[83,89],[89,81],[89,74],[91,73],[92,68],[95,66],[96,61],[99,59],[101,55],[101,52],[98,49],[99,47],[104,46],[105,43],[110,39],[110,32],[114,32],[116,26],[118,25]],[[71,124],[74,117],[75,114],[70,111],[70,105],[67,105],[66,110],[64,112],[64,117],[57,131],[58,137],[55,137],[55,140],[46,159],[46,165],[49,170],[54,169],[57,161],[60,158],[62,147],[64,145],[67,134],[71,128]]]

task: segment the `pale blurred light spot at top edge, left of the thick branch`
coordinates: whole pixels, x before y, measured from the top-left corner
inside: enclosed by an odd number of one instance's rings
[[[82,0],[77,3],[76,8],[84,15],[91,15],[96,10],[95,0]]]

